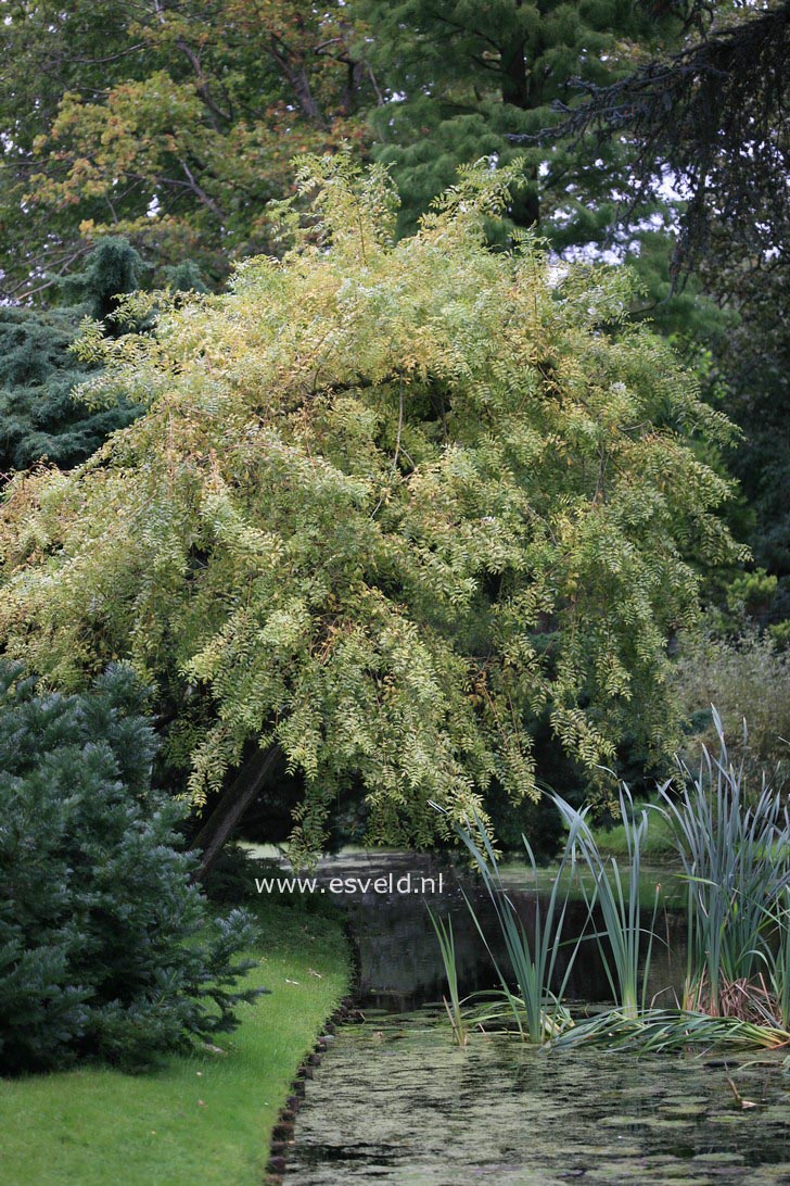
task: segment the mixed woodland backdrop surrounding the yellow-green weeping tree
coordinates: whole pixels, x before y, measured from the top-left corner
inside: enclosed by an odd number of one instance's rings
[[[385,165],[397,237],[458,166],[521,162],[492,246],[533,229],[558,263],[628,264],[632,318],[670,340],[740,429],[699,451],[740,483],[722,515],[750,559],[706,568],[704,629],[670,639],[676,695],[687,728],[705,728],[713,700],[730,727],[749,719],[756,760],[786,763],[789,30],[776,0],[8,0],[2,480],[75,466],[134,420],[126,395],[101,408],[71,395],[101,365],[71,350],[84,319],[108,339],[149,332],[123,294],[166,291],[178,305],[224,291],[250,256],[282,255],[294,158]],[[545,785],[578,790],[583,774],[540,723],[535,754]],[[628,738],[617,770],[644,773]],[[298,796],[278,770],[258,822],[284,835]],[[524,824],[496,791],[492,811],[503,840]]]

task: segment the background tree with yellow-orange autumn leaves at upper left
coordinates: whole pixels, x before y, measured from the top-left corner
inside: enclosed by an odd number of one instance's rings
[[[2,291],[40,291],[101,235],[214,280],[269,248],[291,157],[365,138],[375,81],[351,40],[336,0],[9,0]]]

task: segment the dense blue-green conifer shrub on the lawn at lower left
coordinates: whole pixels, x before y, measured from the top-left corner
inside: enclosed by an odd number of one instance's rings
[[[81,695],[0,664],[0,1067],[139,1066],[236,1025],[249,920],[213,923],[150,788],[129,670]]]

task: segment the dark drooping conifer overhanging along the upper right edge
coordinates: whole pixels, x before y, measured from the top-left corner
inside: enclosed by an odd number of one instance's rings
[[[680,286],[694,268],[696,283],[728,312],[714,368],[727,413],[744,431],[732,467],[753,510],[746,538],[756,562],[782,582],[778,620],[790,617],[790,4],[691,0],[687,17],[698,27],[679,52],[587,88],[557,134],[595,130],[593,145],[628,139],[631,223],[667,173],[685,195],[670,275]]]

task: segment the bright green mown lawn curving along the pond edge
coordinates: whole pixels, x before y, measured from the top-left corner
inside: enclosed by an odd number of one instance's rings
[[[4,1186],[261,1186],[271,1127],[347,991],[349,964],[338,922],[270,901],[259,914],[264,944],[250,976],[271,995],[242,1006],[226,1053],[171,1058],[137,1076],[0,1080]]]

